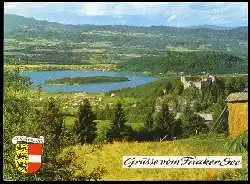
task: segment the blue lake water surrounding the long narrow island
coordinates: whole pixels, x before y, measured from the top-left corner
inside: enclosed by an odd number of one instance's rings
[[[140,84],[150,83],[157,80],[157,77],[146,76],[142,74],[109,72],[109,71],[91,71],[91,70],[53,70],[53,71],[24,71],[20,72],[23,76],[30,77],[33,85],[41,84],[44,91],[51,92],[108,92],[116,89],[136,87]],[[80,85],[47,85],[46,80],[53,80],[63,77],[93,77],[93,76],[110,76],[110,77],[127,77],[129,81],[91,83]]]

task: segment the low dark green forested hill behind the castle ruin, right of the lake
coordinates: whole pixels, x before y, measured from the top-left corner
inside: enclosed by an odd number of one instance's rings
[[[164,55],[138,58],[120,63],[123,70],[133,72],[185,72],[186,74],[248,73],[248,60],[223,52],[177,52],[169,51]]]

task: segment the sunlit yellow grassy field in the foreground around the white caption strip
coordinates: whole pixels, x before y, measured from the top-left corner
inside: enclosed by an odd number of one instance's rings
[[[104,180],[233,180],[242,179],[242,169],[125,169],[125,155],[150,156],[198,156],[198,155],[243,155],[243,168],[247,169],[247,153],[228,153],[227,138],[202,135],[182,140],[165,142],[115,142],[104,144],[94,152],[88,145],[66,148],[76,153],[76,162],[86,162],[87,170],[97,166],[106,169]],[[76,171],[77,172],[77,171]]]

